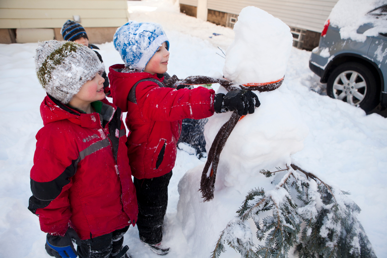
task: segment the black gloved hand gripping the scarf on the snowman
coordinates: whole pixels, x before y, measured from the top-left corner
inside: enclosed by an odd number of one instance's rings
[[[258,96],[249,90],[233,90],[223,98],[223,105],[227,110],[238,112],[239,116],[253,114],[254,109],[260,106]]]

